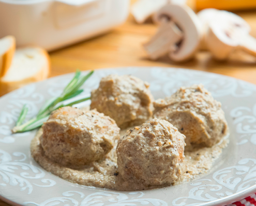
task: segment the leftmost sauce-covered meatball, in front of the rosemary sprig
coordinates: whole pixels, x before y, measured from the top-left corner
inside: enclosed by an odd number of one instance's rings
[[[52,161],[70,168],[102,159],[119,138],[115,121],[96,110],[63,107],[42,126],[40,143]]]

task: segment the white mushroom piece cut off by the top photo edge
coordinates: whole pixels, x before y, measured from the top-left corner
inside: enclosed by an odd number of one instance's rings
[[[142,24],[168,3],[169,0],[138,0],[131,6],[131,14],[137,23]]]

